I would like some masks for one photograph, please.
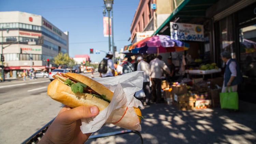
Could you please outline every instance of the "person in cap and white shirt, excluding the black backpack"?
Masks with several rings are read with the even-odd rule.
[[[113,53],[109,51],[106,54],[106,57],[104,58],[104,59],[108,59],[108,64],[107,64],[108,71],[106,73],[100,73],[101,77],[115,76],[115,71],[114,71],[115,67],[114,67],[112,58],[113,58]]]

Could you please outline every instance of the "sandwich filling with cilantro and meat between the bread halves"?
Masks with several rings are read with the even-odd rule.
[[[102,99],[102,100],[110,103],[110,100],[108,100],[105,95],[100,95],[99,93],[97,93],[96,91],[94,91],[93,89],[88,87],[87,85],[80,83],[80,82],[76,82],[75,80],[72,80],[72,78],[65,77],[59,73],[53,75],[53,78],[59,80],[60,82],[62,82],[65,85],[68,85],[69,87],[71,87],[71,90],[74,93],[76,93],[76,92],[88,93],[90,95],[93,95],[99,99]]]

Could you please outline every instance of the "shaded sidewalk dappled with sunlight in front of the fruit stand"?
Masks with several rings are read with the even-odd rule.
[[[142,110],[144,144],[256,143],[256,104],[239,102],[238,112],[220,108],[178,111],[173,105],[152,104]],[[123,128],[105,125],[93,135]],[[86,144],[139,144],[135,134],[87,141]]]

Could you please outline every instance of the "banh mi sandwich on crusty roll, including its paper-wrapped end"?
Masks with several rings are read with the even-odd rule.
[[[91,78],[76,73],[57,73],[47,88],[47,94],[54,100],[70,107],[96,105],[104,110],[111,102],[113,92]],[[119,108],[111,113],[106,123],[126,129],[134,129],[141,122],[142,114],[138,107]],[[134,114],[134,111],[136,115]]]

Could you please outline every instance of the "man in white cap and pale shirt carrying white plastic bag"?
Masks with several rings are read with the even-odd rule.
[[[143,91],[145,92],[146,95],[146,104],[150,105],[150,70],[149,70],[149,64],[145,62],[142,58],[142,56],[139,56],[137,58],[138,61],[138,66],[137,66],[137,71],[143,71]]]

